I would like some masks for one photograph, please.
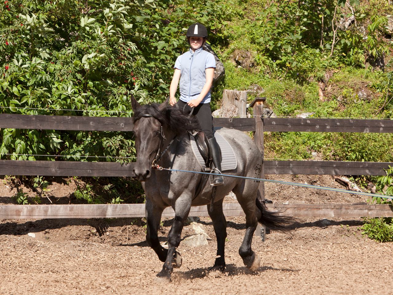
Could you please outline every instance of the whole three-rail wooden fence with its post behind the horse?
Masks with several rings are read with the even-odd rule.
[[[265,98],[257,98],[250,105],[254,118],[216,118],[216,127],[227,127],[241,131],[254,131],[254,140],[261,153],[263,132],[358,132],[393,133],[393,120],[363,119],[319,119],[319,118],[263,118]],[[131,118],[42,116],[0,114],[0,128],[83,130],[83,131],[132,131]],[[350,144],[350,143],[349,143]],[[385,175],[384,169],[392,162],[342,162],[288,160],[263,162],[264,174],[308,174],[308,175]],[[123,176],[132,177],[134,163],[122,165],[117,162],[77,161],[28,161],[0,160],[0,175],[43,176]],[[264,194],[264,183],[260,190]],[[267,204],[272,210],[281,210],[290,216],[393,216],[389,205],[370,204]],[[1,219],[23,218],[92,218],[92,217],[143,217],[144,205],[4,205],[0,206]],[[207,216],[206,206],[195,207],[190,216]],[[224,207],[226,216],[243,215],[238,204]],[[167,209],[163,216],[173,216]]]

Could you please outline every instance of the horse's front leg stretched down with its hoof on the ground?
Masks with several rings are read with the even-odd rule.
[[[162,270],[157,274],[159,282],[170,282],[173,266],[178,264],[180,254],[176,248],[180,244],[184,222],[191,208],[191,197],[180,197],[174,206],[174,221],[168,234],[168,253]],[[181,258],[180,258],[181,260]]]

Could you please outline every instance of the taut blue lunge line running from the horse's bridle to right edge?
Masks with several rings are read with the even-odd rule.
[[[168,168],[164,168],[164,170],[169,170],[169,171],[174,171],[174,172],[180,171],[180,172],[189,172],[189,173],[197,173],[197,174],[217,175],[215,173],[188,171],[188,170],[178,170],[178,169],[168,169]],[[306,188],[318,188],[320,190],[332,190],[334,192],[347,193],[347,194],[353,194],[353,195],[368,195],[370,197],[378,197],[378,198],[384,198],[384,199],[393,199],[393,197],[387,196],[387,195],[371,194],[371,193],[364,193],[364,192],[353,192],[351,190],[342,190],[340,188],[328,188],[328,187],[325,187],[325,186],[317,186],[317,185],[311,185],[311,184],[290,183],[290,182],[287,182],[287,181],[278,181],[278,180],[270,180],[270,179],[263,179],[263,178],[253,178],[253,177],[228,175],[228,174],[222,174],[222,176],[243,178],[243,179],[250,179],[250,180],[257,180],[257,181],[266,181],[266,182],[270,182],[270,183],[282,183],[282,184],[289,184],[289,185],[294,185],[294,186],[303,186],[303,187],[306,187]]]

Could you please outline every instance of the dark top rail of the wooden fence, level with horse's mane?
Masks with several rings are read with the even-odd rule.
[[[263,118],[264,131],[393,133],[393,120]],[[216,118],[216,127],[255,131],[254,118]],[[0,114],[0,128],[132,131],[129,117]]]

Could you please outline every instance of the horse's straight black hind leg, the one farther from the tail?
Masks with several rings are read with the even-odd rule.
[[[213,212],[210,212],[210,205],[208,205],[208,212],[213,221],[214,232],[217,237],[217,256],[213,267],[210,271],[224,271],[225,269],[225,239],[226,239],[226,219],[224,212],[222,212],[222,201],[214,203]]]

